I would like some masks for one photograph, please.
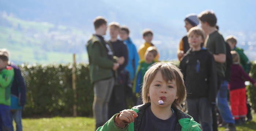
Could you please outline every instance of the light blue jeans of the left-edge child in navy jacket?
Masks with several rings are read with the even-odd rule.
[[[22,110],[11,111],[11,120],[14,119],[16,123],[16,131],[22,131],[21,118],[22,118]]]

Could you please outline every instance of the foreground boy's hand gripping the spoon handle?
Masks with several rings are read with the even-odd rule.
[[[125,124],[134,122],[134,118],[138,116],[138,114],[133,110],[123,110],[120,111],[120,113],[121,114],[118,116],[118,118]]]

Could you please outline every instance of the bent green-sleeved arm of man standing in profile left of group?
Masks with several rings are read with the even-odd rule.
[[[93,44],[93,47],[92,47],[93,51],[91,51],[92,52],[92,55],[91,55],[92,62],[95,63],[96,65],[98,65],[99,67],[112,69],[114,66],[114,61],[101,56],[101,54],[100,54],[101,47],[99,44],[100,43],[98,43],[98,42],[95,42]]]

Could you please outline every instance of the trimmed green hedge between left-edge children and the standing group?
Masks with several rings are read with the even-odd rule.
[[[87,64],[76,66],[77,111],[92,116],[93,87]],[[72,64],[20,65],[27,88],[23,116],[72,116]]]

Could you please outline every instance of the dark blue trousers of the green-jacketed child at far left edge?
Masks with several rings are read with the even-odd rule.
[[[10,106],[0,104],[0,131],[13,131]]]

